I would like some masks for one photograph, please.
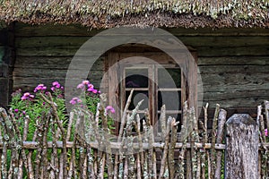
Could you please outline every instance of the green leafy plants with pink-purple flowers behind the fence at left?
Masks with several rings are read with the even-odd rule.
[[[74,105],[74,109],[76,110],[86,109],[95,115],[98,103],[100,103],[100,91],[94,89],[94,86],[90,81],[82,81],[82,83],[77,86],[77,89],[82,90],[81,96],[72,98],[69,103]],[[51,92],[52,100],[56,104],[56,113],[59,116],[60,121],[62,121],[64,127],[67,127],[66,125],[69,116],[65,107],[64,87],[59,82],[54,81],[49,90],[44,84],[39,84],[35,90],[33,90],[33,93],[25,92],[22,94],[22,90],[16,90],[12,94],[10,107],[15,120],[20,126],[20,132],[23,130],[25,117],[29,117],[30,119],[27,141],[32,140],[37,123],[40,122],[42,117],[52,113],[49,104],[41,97],[41,95],[43,95],[45,98],[49,98],[48,91]],[[115,112],[114,108],[111,106],[108,106],[106,109],[111,113]],[[108,119],[108,128],[113,129],[113,120],[111,117]],[[51,135],[51,132],[49,132],[49,141],[52,139]]]

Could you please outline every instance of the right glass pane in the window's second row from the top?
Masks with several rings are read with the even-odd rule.
[[[166,110],[181,110],[180,91],[158,91],[158,110],[165,104]]]

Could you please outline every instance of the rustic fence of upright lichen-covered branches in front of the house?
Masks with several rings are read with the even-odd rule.
[[[45,98],[51,113],[36,119],[31,141],[26,139],[32,119],[25,117],[19,125],[11,111],[0,108],[0,178],[224,178],[225,110],[216,106],[209,130],[208,105],[203,107],[204,119],[197,120],[186,103],[178,134],[178,122],[166,116],[163,106],[161,132],[156,133],[147,111],[141,124],[136,114],[141,103],[132,114],[126,113],[130,97],[117,138],[108,130],[106,98],[101,98],[96,115],[74,109],[66,125],[59,120],[54,102]],[[269,170],[264,133],[269,126],[268,111],[265,101],[257,112],[261,178],[268,177]]]

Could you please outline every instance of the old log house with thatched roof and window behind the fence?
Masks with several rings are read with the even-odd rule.
[[[268,0],[3,0],[0,21],[2,106],[8,104],[13,90],[33,90],[39,83],[50,85],[52,81],[65,84],[69,64],[82,44],[118,27],[161,28],[181,40],[197,63],[190,73],[194,78],[201,76],[203,101],[209,103],[209,109],[218,103],[229,115],[253,115],[256,106],[269,98]],[[141,58],[128,62],[132,68],[105,75],[113,64],[133,55]],[[161,70],[155,64],[141,67],[143,57],[165,66],[176,87],[169,88],[165,77],[156,77]],[[96,87],[101,81],[105,84],[103,91],[108,92],[112,106],[123,106],[129,90],[136,88],[135,95],[147,96],[152,116],[160,111],[158,94],[163,82],[164,91],[179,94],[179,108],[171,109],[170,114],[180,118],[189,91],[199,95],[199,84],[192,81],[187,85],[181,67],[156,47],[129,43],[100,55],[88,79]],[[130,79],[120,82],[128,72]],[[144,79],[147,75],[159,78],[160,84]],[[110,87],[115,81],[117,88]]]

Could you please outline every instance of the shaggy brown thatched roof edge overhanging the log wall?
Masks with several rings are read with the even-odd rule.
[[[269,0],[1,0],[0,21],[91,28],[269,27]]]

